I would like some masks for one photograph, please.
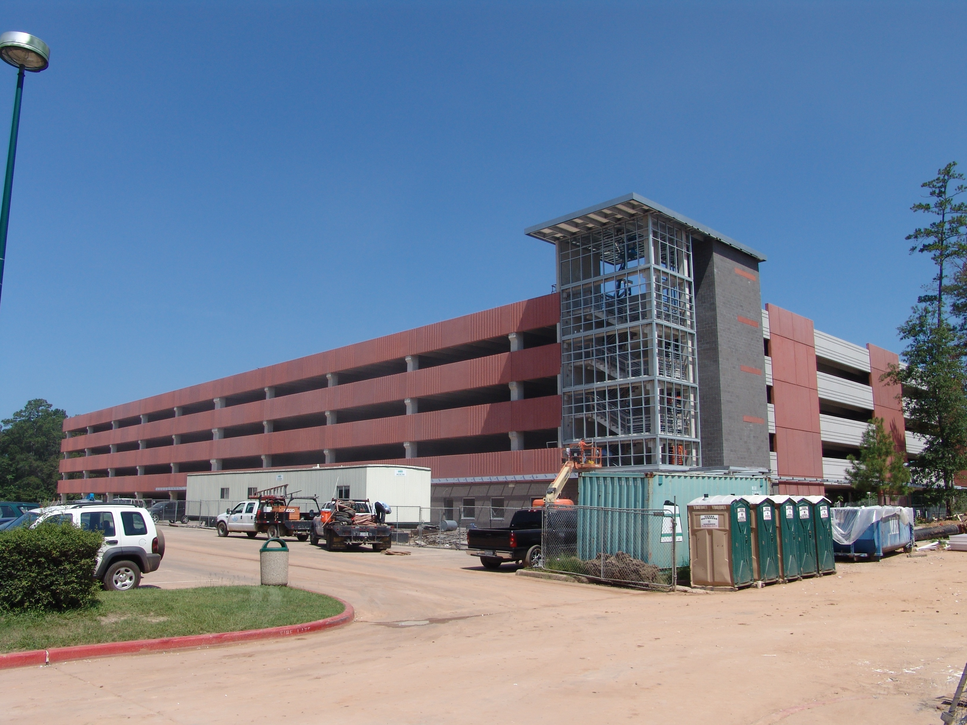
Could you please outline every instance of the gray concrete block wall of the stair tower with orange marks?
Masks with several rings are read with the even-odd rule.
[[[769,468],[758,263],[715,240],[694,244],[692,258],[702,465]]]

